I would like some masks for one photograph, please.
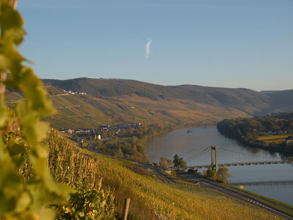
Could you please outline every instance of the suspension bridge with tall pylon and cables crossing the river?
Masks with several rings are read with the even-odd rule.
[[[226,154],[229,152],[230,154],[237,154],[238,158],[236,160],[233,159],[232,161],[230,158],[229,162],[226,163],[218,163],[218,150],[226,151]],[[190,166],[183,166],[180,164],[176,167],[173,167],[174,170],[182,170],[182,169],[196,169],[196,168],[212,168],[218,171],[219,167],[231,167],[231,166],[245,166],[245,165],[265,165],[265,164],[285,164],[291,163],[293,164],[293,157],[269,157],[269,156],[258,156],[258,155],[251,155],[246,153],[239,153],[233,150],[227,150],[225,148],[221,148],[217,145],[211,145],[210,147],[202,150],[201,152],[193,155],[192,157],[185,160],[186,163],[199,158],[200,156],[208,153],[211,151],[211,163],[210,164],[197,164],[197,165],[190,165]],[[241,161],[242,159],[242,161]]]

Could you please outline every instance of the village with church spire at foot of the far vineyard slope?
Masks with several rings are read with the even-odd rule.
[[[150,128],[152,125],[147,126],[147,128]],[[141,123],[122,123],[110,126],[109,121],[107,125],[101,125],[98,128],[60,128],[58,131],[69,133],[71,134],[71,137],[77,139],[77,141],[83,141],[83,138],[86,137],[88,140],[100,140],[101,139],[101,133],[105,132],[108,133],[108,131],[113,130],[115,131],[115,135],[118,135],[121,129],[129,129],[129,128],[141,128]],[[77,137],[77,138],[76,138]]]

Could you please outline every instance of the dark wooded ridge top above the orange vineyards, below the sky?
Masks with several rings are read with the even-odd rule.
[[[86,92],[97,98],[136,94],[154,101],[184,99],[208,105],[220,104],[248,114],[261,112],[268,108],[272,102],[272,98],[266,94],[243,88],[231,89],[197,85],[162,86],[127,79],[43,79],[43,82],[67,91]]]

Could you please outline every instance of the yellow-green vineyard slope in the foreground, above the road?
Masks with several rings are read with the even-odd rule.
[[[225,197],[215,191],[191,185],[164,184],[155,177],[141,176],[115,160],[76,148],[51,132],[44,141],[49,148],[48,166],[60,182],[77,181],[94,188],[102,182],[115,196],[116,216],[121,216],[123,199],[130,197],[128,219],[278,219],[260,209]]]

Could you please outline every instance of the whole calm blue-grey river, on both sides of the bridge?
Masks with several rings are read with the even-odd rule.
[[[187,130],[192,133],[186,133]],[[218,163],[279,161],[281,159],[278,157],[292,156],[245,146],[219,133],[216,126],[180,128],[154,137],[147,143],[146,154],[150,156],[151,162],[159,162],[161,156],[173,160],[174,155],[178,154],[184,160],[188,161],[190,158],[187,165],[209,165],[211,164],[211,151],[208,148],[210,145],[219,146]],[[293,164],[227,168],[233,175],[229,181],[239,182],[241,183],[239,185],[244,185],[246,190],[293,205]],[[199,171],[203,170],[199,169]]]

